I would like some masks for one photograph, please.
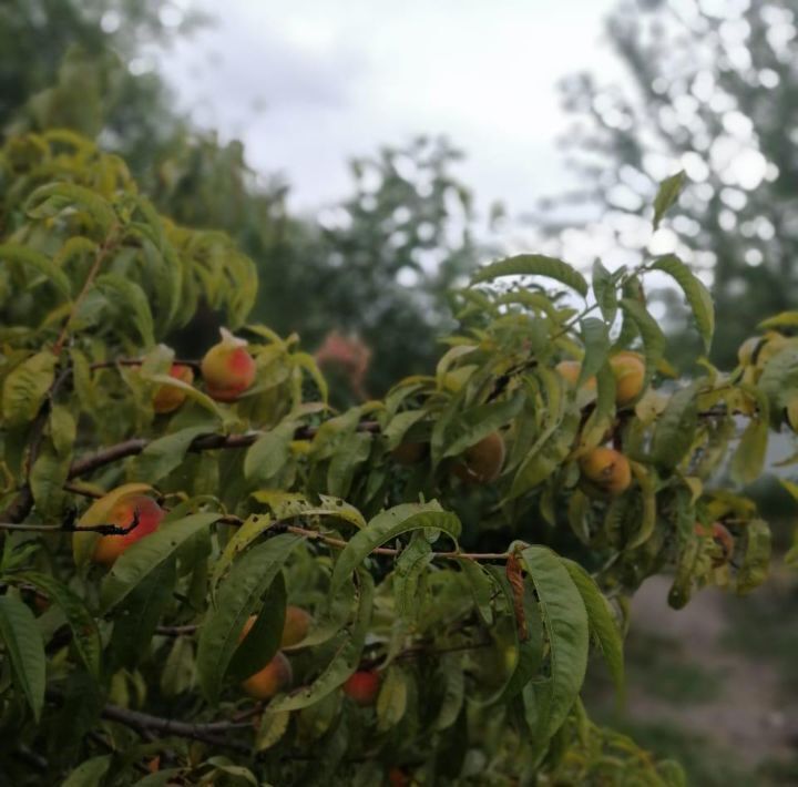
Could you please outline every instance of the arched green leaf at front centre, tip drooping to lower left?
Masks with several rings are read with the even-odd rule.
[[[397,535],[420,528],[440,530],[457,541],[461,525],[457,515],[443,511],[437,501],[395,505],[377,514],[350,539],[336,561],[330,591],[335,593],[372,550]]]

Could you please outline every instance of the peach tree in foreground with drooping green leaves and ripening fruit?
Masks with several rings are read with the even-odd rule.
[[[0,780],[684,784],[580,693],[594,650],[623,696],[646,578],[765,579],[739,487],[798,423],[794,315],[676,379],[649,272],[714,329],[681,259],[519,255],[450,293],[433,375],[334,411],[253,263],[120,159],[27,135],[0,178]],[[176,359],[203,300],[236,335]]]

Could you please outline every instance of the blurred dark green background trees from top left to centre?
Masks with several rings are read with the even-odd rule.
[[[288,185],[254,172],[239,142],[195,127],[149,64],[158,47],[207,22],[155,0],[3,3],[4,133],[66,127],[98,139],[125,157],[161,211],[224,229],[256,260],[253,320],[297,331],[310,347],[337,330],[361,337],[369,369],[357,390],[337,387],[339,403],[430,371],[450,319],[446,293],[480,254],[471,196],[452,174],[460,154],[443,140],[386,147],[351,163],[351,196],[320,221],[289,215]],[[198,355],[217,327],[201,308],[174,344]]]

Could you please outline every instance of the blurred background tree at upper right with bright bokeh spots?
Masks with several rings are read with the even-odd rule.
[[[712,284],[720,365],[798,295],[797,11],[795,0],[627,0],[606,29],[626,86],[589,73],[562,85],[581,185],[538,218],[559,234],[576,224],[569,209],[583,224],[573,208],[592,206],[612,243],[638,252],[648,237],[637,218],[658,181],[684,168],[694,185],[657,245],[684,251]],[[664,297],[678,329],[677,301]]]

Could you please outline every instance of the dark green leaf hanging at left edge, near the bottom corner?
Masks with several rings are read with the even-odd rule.
[[[11,662],[14,684],[39,722],[47,681],[44,642],[33,613],[11,595],[0,596],[0,638]]]

